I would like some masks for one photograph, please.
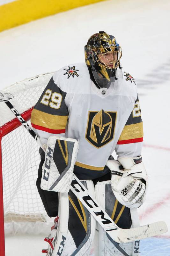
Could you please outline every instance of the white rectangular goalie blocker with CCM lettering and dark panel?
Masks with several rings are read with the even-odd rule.
[[[57,136],[48,138],[42,166],[42,189],[60,193],[69,192],[78,145],[76,139]]]

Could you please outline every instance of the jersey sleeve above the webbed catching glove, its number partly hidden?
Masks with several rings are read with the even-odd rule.
[[[137,96],[134,109],[122,130],[115,152],[118,157],[137,157],[141,155],[142,144],[143,122],[141,119],[141,109]]]

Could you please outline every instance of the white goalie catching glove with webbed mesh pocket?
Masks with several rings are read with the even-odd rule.
[[[116,199],[126,207],[140,207],[148,188],[142,157],[109,160],[107,166],[112,172],[111,187]]]

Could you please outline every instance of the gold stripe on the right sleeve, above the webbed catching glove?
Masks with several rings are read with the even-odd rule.
[[[143,122],[137,124],[125,125],[122,130],[119,140],[130,140],[137,139],[144,136],[143,133]]]

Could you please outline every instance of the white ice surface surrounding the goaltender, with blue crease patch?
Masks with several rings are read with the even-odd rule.
[[[170,256],[169,0],[122,0],[59,13],[0,33],[0,88],[70,62],[84,62],[84,45],[99,30],[116,36],[122,65],[138,83],[144,123],[143,160],[149,189],[141,225],[165,220],[169,231],[141,241],[141,256]],[[47,235],[47,234],[46,234]],[[44,236],[45,237],[45,236]],[[42,236],[7,236],[6,256],[38,256]]]

